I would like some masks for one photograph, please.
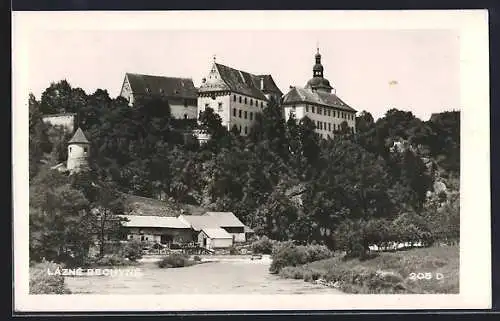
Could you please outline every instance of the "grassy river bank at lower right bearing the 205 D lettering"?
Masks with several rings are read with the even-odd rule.
[[[279,274],[346,293],[459,293],[459,247],[379,253],[366,260],[339,256],[284,267]]]

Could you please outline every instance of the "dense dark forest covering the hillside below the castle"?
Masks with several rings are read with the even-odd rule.
[[[68,181],[47,170],[66,160],[71,135],[42,116],[72,112],[91,142],[92,180],[108,191],[100,194],[116,190],[232,211],[258,235],[348,252],[392,241],[458,239],[459,112],[423,121],[390,109],[374,121],[363,111],[355,134],[341,129],[322,139],[311,120],[285,121],[273,102],[250,134],[240,136],[211,109],[198,122],[176,120],[160,98],[130,107],[106,90],[89,95],[66,81],[51,84],[39,101],[30,96],[29,112],[30,224],[37,231],[57,206],[74,213],[64,229],[79,224],[92,204],[119,211],[110,197],[82,187],[81,177]],[[211,139],[200,145],[190,137],[193,128]]]

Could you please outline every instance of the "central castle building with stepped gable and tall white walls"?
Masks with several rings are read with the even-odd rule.
[[[280,101],[282,92],[271,75],[253,75],[214,62],[198,89],[198,114],[210,107],[228,130],[233,126],[247,135],[271,99]]]

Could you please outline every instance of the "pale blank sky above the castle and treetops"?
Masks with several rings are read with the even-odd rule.
[[[376,119],[390,108],[460,110],[460,43],[453,29],[414,30],[109,30],[39,28],[22,39],[27,88],[39,99],[66,79],[88,94],[119,95],[126,72],[192,78],[199,86],[213,57],[271,74],[283,93],[312,77],[317,46],[337,95]]]

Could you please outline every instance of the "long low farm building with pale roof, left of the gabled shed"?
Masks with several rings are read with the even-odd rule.
[[[191,227],[177,217],[124,215],[127,240],[161,244],[192,242]]]

